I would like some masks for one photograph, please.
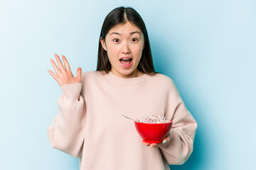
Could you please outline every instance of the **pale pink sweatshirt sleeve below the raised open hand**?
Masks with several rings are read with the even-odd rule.
[[[58,113],[48,127],[51,147],[73,157],[82,155],[85,138],[85,101],[80,95],[82,83],[60,86],[63,91],[58,98]]]

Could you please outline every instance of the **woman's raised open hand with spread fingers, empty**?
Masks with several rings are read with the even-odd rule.
[[[68,64],[68,60],[65,58],[65,56],[62,55],[65,67],[63,66],[63,63],[61,62],[60,57],[58,57],[57,54],[54,54],[54,56],[58,63],[58,67],[52,59],[50,59],[50,62],[53,65],[53,69],[56,74],[54,74],[52,71],[50,71],[50,69],[48,69],[48,72],[58,82],[58,84],[60,84],[60,86],[63,86],[65,84],[80,83],[82,69],[80,67],[78,67],[76,77],[74,77],[70,70],[70,65]]]

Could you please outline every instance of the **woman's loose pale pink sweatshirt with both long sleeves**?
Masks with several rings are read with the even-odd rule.
[[[163,74],[125,79],[111,72],[84,72],[82,83],[60,88],[63,95],[48,137],[51,147],[80,157],[80,170],[164,170],[186,162],[193,150],[196,121]],[[146,147],[134,122],[122,114],[173,120],[170,142]]]

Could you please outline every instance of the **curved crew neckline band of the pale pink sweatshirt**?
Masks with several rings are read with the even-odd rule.
[[[105,74],[105,77],[114,83],[122,84],[122,85],[133,85],[133,84],[142,84],[150,78],[149,74],[142,74],[140,77],[132,77],[132,78],[124,78],[118,77],[114,75],[112,72],[108,72]]]

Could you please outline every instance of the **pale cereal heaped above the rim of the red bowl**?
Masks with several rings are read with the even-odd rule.
[[[135,120],[138,123],[170,123],[171,121],[166,119],[166,117],[162,115],[144,115],[142,119]]]

